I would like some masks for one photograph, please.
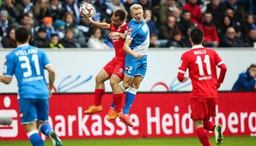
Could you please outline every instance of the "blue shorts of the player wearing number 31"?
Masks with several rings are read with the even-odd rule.
[[[49,99],[19,99],[20,118],[22,124],[36,120],[48,121]]]

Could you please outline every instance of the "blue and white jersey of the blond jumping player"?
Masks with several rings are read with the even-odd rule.
[[[132,39],[130,48],[135,52],[147,55],[149,50],[149,26],[142,20],[132,19],[127,28],[127,38]]]

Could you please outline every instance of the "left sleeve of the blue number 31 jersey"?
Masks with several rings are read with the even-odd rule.
[[[14,62],[9,55],[6,55],[5,61],[3,64],[3,75],[12,77],[14,73],[15,73]]]

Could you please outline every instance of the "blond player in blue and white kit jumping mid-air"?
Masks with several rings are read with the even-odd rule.
[[[125,96],[124,110],[119,114],[120,120],[124,121],[127,126],[132,126],[129,111],[147,70],[149,49],[149,27],[143,18],[143,8],[140,4],[133,4],[130,11],[133,19],[127,27],[124,44],[125,77],[120,85],[122,91],[129,89]]]

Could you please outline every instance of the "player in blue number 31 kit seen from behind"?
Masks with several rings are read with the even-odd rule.
[[[19,88],[21,124],[26,127],[27,137],[32,145],[45,145],[39,135],[40,131],[52,139],[54,146],[62,146],[56,132],[47,123],[49,97],[52,96],[55,70],[44,50],[28,44],[30,35],[25,26],[18,26],[15,29],[15,38],[18,47],[6,55],[0,81],[8,85],[15,75]],[[44,69],[49,75],[48,87]]]

